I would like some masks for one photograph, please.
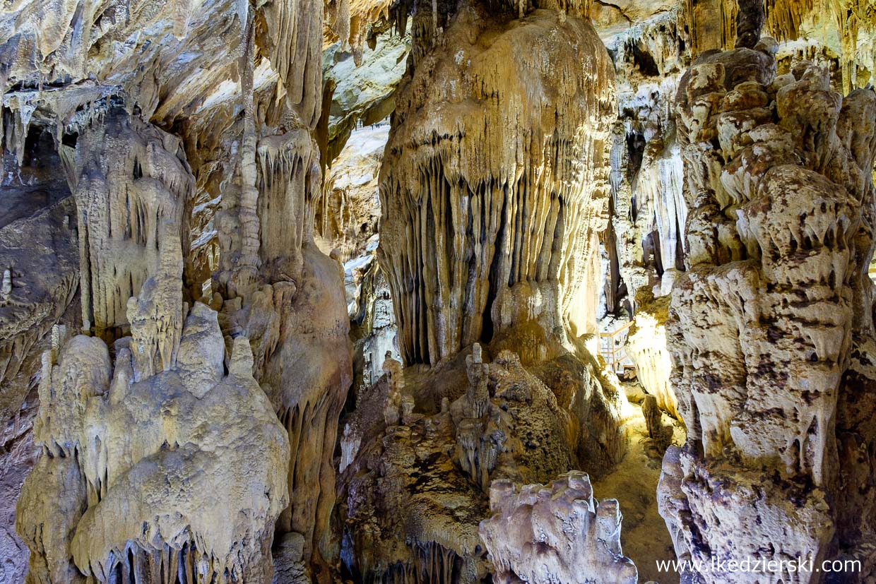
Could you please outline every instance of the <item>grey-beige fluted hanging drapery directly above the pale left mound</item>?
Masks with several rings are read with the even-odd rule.
[[[84,132],[75,162],[83,327],[111,337],[147,273],[175,261],[181,277],[194,184],[177,138],[119,112]]]

